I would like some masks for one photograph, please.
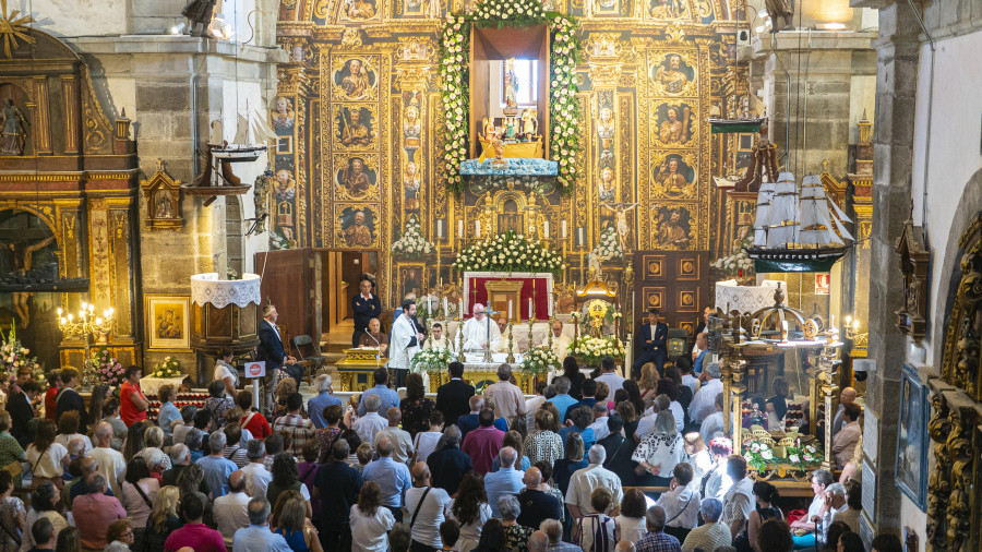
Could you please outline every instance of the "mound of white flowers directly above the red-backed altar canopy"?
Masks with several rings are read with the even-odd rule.
[[[505,232],[464,249],[454,261],[455,271],[550,272],[565,268],[563,257],[538,240]]]

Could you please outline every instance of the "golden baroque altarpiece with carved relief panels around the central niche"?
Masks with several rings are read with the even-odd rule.
[[[539,231],[549,221],[551,245],[579,253],[574,228],[584,229],[591,249],[604,228],[616,224],[616,212],[601,203],[637,203],[627,214],[635,229],[628,250],[728,254],[732,243],[724,237],[734,221],[710,176],[721,173],[724,164],[738,166],[739,136],[711,135],[706,119],[730,112],[746,94],[739,84],[746,68],[735,63],[740,2],[549,3],[548,9],[576,17],[580,29],[575,99],[584,113],[582,177],[565,194],[516,185],[471,187],[455,195],[442,183],[439,36],[447,12],[471,5],[464,0],[284,1],[277,34],[290,61],[279,68],[272,116],[274,123],[277,116],[290,123],[277,128],[284,140],[274,170],[284,182],[277,201],[292,204],[284,209],[291,216],[276,219],[271,229],[274,248],[387,253],[409,217],[419,219],[431,242],[440,220],[442,274],[438,263],[380,255],[387,302],[400,297],[393,285],[410,265],[426,272],[427,286],[440,277],[452,281],[454,251],[460,240],[476,238],[475,221],[487,237],[489,229],[504,230],[515,213],[529,213],[528,223]],[[568,260],[575,264],[576,256]]]

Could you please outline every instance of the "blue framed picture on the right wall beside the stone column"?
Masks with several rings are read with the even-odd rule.
[[[900,380],[900,431],[897,432],[897,487],[926,512],[927,387],[918,371],[903,364]]]

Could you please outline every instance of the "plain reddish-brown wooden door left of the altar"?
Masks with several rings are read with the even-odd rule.
[[[277,322],[286,338],[309,335],[321,336],[320,293],[315,292],[316,265],[309,248],[268,251],[255,254],[256,272],[262,275],[263,307],[276,305]],[[262,316],[262,309],[259,310]]]

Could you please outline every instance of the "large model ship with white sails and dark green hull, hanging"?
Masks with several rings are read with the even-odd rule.
[[[829,208],[831,206],[831,208]],[[802,180],[791,172],[763,182],[757,192],[754,244],[745,248],[756,272],[828,272],[854,241],[852,220],[825,193],[817,175]]]

